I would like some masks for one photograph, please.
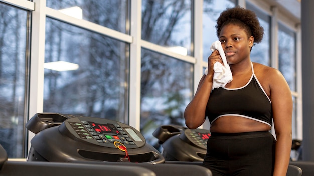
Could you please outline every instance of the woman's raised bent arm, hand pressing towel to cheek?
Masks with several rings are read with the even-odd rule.
[[[213,84],[213,65],[215,62],[221,62],[219,52],[214,51],[208,58],[208,74],[201,78],[197,91],[184,111],[185,123],[188,128],[196,129],[205,121],[206,105],[212,90]]]

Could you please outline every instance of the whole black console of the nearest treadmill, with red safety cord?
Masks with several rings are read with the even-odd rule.
[[[37,113],[26,124],[36,135],[27,161],[163,163],[135,128],[105,118]]]

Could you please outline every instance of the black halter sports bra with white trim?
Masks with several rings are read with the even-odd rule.
[[[243,87],[212,90],[205,113],[211,124],[222,116],[240,116],[272,127],[271,101],[254,74],[253,64],[252,76]]]

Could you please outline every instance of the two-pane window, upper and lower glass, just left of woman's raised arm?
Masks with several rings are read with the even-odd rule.
[[[142,0],[142,39],[191,55],[191,14],[191,0]],[[146,49],[141,52],[140,131],[155,145],[152,133],[160,125],[184,125],[193,64]]]

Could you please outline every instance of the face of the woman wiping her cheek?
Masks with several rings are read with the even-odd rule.
[[[236,64],[250,58],[254,38],[248,37],[245,30],[238,25],[225,25],[220,31],[219,40],[229,64]]]

